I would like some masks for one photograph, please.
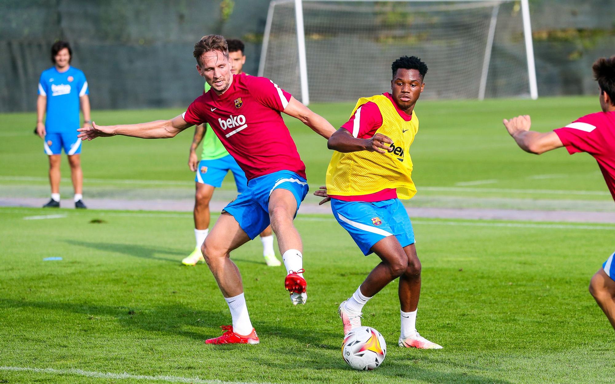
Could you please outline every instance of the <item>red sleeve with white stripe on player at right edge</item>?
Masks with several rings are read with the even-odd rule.
[[[583,116],[569,123],[566,127],[554,130],[561,143],[568,149],[569,154],[576,154],[577,152],[596,154],[600,152],[601,140],[595,135],[599,120],[592,115]]]

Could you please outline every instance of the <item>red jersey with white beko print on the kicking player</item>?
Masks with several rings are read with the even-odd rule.
[[[248,180],[282,170],[306,178],[306,167],[280,114],[290,93],[265,77],[231,76],[226,92],[204,92],[183,119],[194,125],[209,123]]]

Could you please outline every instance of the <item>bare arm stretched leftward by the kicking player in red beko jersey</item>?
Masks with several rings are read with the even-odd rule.
[[[115,135],[133,136],[143,139],[166,139],[175,137],[178,133],[191,127],[191,123],[180,115],[171,120],[156,120],[149,123],[122,124],[122,125],[96,125],[92,122],[92,127],[79,128],[81,132],[77,137],[82,140],[92,140],[97,137],[109,137]]]

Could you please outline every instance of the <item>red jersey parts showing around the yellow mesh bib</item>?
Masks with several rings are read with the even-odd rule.
[[[395,107],[399,116],[406,121],[412,120],[412,116],[403,112],[395,101],[393,100],[390,93],[383,93],[384,96],[387,96],[391,103]],[[344,123],[341,128],[346,128],[352,136],[359,139],[371,139],[373,135],[375,135],[378,128],[383,125],[383,115],[380,113],[380,109],[371,101],[363,104],[352,114],[350,120]],[[336,198],[337,200],[341,200],[343,202],[381,202],[383,200],[389,200],[390,198],[397,198],[397,190],[386,188],[376,192],[375,194],[369,195],[357,195],[357,196],[335,196],[331,195],[332,198]]]

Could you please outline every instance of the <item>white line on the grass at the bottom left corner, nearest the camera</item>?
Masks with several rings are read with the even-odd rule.
[[[181,376],[147,376],[147,375],[132,375],[128,373],[113,374],[105,372],[95,372],[82,369],[53,369],[53,368],[30,368],[30,367],[2,367],[0,370],[12,372],[35,372],[38,374],[54,374],[54,375],[78,375],[85,377],[111,378],[111,379],[131,379],[131,380],[156,380],[159,382],[169,383],[195,383],[195,384],[256,384],[256,382],[223,382],[222,380],[207,380],[198,377],[181,377]],[[259,383],[269,384],[269,383]]]

